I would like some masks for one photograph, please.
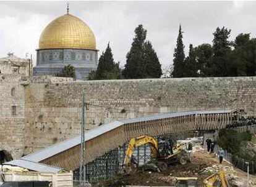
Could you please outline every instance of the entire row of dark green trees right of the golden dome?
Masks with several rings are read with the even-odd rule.
[[[224,26],[216,28],[212,44],[204,43],[197,47],[190,44],[189,54],[186,57],[182,41],[183,32],[179,25],[173,63],[170,63],[168,77],[255,76],[256,39],[250,38],[249,33],[241,33],[234,41],[229,41],[230,34],[231,30]],[[87,79],[144,79],[161,78],[162,75],[158,55],[151,42],[147,40],[147,30],[143,25],[139,25],[135,28],[124,69],[120,68],[119,62],[114,61],[108,43],[99,58],[97,69],[92,71]]]

